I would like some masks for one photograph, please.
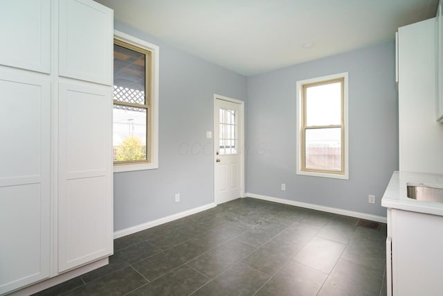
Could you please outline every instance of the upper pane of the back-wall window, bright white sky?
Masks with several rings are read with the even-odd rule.
[[[306,125],[341,124],[341,82],[307,87]]]

